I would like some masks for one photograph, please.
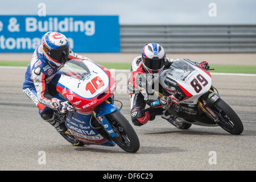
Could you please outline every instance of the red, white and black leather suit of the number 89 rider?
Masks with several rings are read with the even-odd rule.
[[[164,69],[168,69],[171,67],[171,64],[174,60],[168,61],[166,60]],[[206,61],[203,61],[201,63],[197,63],[204,69],[207,69],[209,67],[208,63]],[[148,82],[150,79],[148,79],[146,74],[146,70],[143,68],[142,65],[142,59],[141,56],[135,57],[133,62],[131,63],[131,69],[130,69],[130,78],[128,80],[128,93],[130,95],[130,102],[131,102],[131,121],[136,126],[141,126],[146,124],[149,120],[152,121],[155,119],[156,115],[162,115],[163,114],[163,106],[164,104],[161,102],[161,97],[163,95],[170,95],[170,91],[166,92],[164,88],[160,84],[158,84],[158,89],[155,89],[158,93],[158,98],[151,99],[148,97],[148,90],[144,91],[139,90],[143,87],[143,85],[147,85],[146,82]],[[139,80],[141,76],[146,77],[146,79],[143,81]],[[139,79],[138,79],[139,78]],[[152,81],[151,81],[152,82]],[[154,84],[154,83],[153,83]],[[155,87],[154,85],[152,87]],[[174,88],[175,89],[175,88]],[[175,90],[172,90],[175,92]],[[150,106],[147,109],[144,109],[146,105]]]

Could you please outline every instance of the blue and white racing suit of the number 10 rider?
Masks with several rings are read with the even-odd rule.
[[[69,60],[71,59],[89,60],[70,49]],[[48,109],[57,109],[54,102],[56,98],[53,96],[61,76],[60,69],[61,67],[49,63],[42,45],[35,49],[25,74],[23,92],[38,106],[40,115]]]

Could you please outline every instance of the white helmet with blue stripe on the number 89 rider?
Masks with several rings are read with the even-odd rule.
[[[166,63],[166,52],[157,43],[149,43],[142,49],[142,64],[148,73],[159,73]]]

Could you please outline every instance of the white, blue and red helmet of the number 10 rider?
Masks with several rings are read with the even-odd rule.
[[[47,32],[42,38],[42,45],[44,55],[51,64],[63,67],[68,61],[69,45],[65,35],[59,32]]]

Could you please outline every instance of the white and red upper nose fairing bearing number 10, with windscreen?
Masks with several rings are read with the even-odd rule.
[[[113,96],[116,85],[110,71],[92,61],[71,60],[62,72],[66,75],[61,75],[57,91],[67,98],[79,113],[92,113],[99,104]],[[99,84],[97,79],[95,82],[95,78],[100,79],[102,83],[99,88],[92,86],[93,83]],[[96,89],[95,92],[92,93],[88,86]]]

